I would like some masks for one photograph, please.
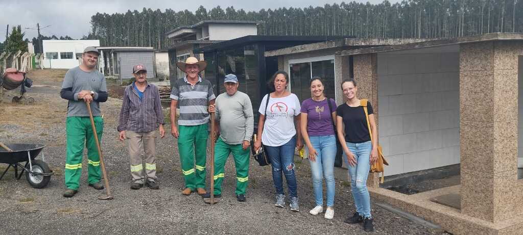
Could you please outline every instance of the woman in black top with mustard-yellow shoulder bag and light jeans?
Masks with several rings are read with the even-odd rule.
[[[347,79],[342,82],[343,95],[346,103],[337,108],[337,132],[339,142],[342,144],[344,160],[349,168],[350,186],[352,189],[356,213],[347,218],[345,222],[357,224],[363,222],[365,231],[373,231],[372,216],[370,215],[370,196],[367,190],[367,177],[370,166],[378,159],[378,132],[374,112],[370,102],[367,103],[372,139],[369,134],[367,117],[356,96],[358,88],[356,82]],[[345,126],[345,130],[343,130]]]

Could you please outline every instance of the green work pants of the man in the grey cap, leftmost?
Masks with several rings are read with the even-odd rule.
[[[98,139],[104,131],[104,120],[101,116],[94,117]],[[78,190],[82,176],[82,156],[84,145],[87,148],[87,171],[89,184],[100,181],[100,156],[93,134],[89,117],[70,116],[65,124],[67,133],[67,156],[65,159],[65,186],[67,189]]]

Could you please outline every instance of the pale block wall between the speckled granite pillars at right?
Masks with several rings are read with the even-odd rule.
[[[459,53],[378,54],[385,175],[448,166],[459,156]]]

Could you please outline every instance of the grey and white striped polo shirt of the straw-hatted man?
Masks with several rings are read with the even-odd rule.
[[[178,125],[196,126],[209,122],[208,104],[216,97],[211,82],[198,76],[198,83],[194,86],[186,77],[176,80],[170,91],[170,98],[178,100]]]

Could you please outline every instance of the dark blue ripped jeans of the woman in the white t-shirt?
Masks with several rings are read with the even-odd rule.
[[[270,158],[272,166],[272,180],[276,187],[277,194],[283,193],[283,177],[281,172],[285,175],[287,180],[287,188],[290,197],[298,197],[298,186],[296,184],[296,175],[294,174],[294,148],[296,147],[296,137],[292,137],[289,142],[282,146],[265,146],[265,150]]]

